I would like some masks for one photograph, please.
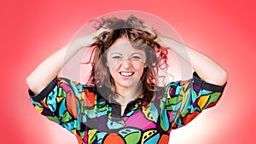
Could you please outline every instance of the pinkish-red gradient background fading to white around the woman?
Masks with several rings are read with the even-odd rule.
[[[119,10],[159,16],[179,32],[184,43],[209,55],[229,72],[218,106],[173,130],[170,144],[256,143],[255,7],[254,0],[1,1],[0,143],[77,143],[67,130],[34,110],[26,76],[89,20]]]

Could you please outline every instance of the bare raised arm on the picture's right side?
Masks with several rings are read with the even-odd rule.
[[[157,43],[164,49],[172,49],[174,53],[181,56],[183,60],[189,62],[195,72],[198,73],[207,83],[223,85],[228,79],[228,74],[223,67],[219,66],[214,60],[203,55],[195,49],[191,49],[183,43],[178,43],[172,38],[158,35]],[[186,53],[184,53],[184,51]],[[189,56],[187,56],[189,55]]]

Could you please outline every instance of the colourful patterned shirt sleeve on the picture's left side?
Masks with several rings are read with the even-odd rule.
[[[81,84],[67,78],[55,78],[38,95],[29,89],[29,95],[38,112],[75,134],[79,130],[77,113],[81,91]]]

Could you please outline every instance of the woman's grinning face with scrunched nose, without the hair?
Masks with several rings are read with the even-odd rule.
[[[117,39],[108,49],[107,66],[116,89],[137,87],[143,76],[146,55],[135,49],[126,37]]]

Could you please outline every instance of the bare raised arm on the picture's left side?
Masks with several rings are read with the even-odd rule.
[[[98,36],[102,29],[91,33],[88,36],[76,39],[72,43],[68,43],[65,47],[57,50],[53,55],[50,55],[26,78],[28,88],[35,95],[38,95],[61,71],[68,60],[73,55],[79,52],[84,47],[89,47],[94,41],[94,37]]]

